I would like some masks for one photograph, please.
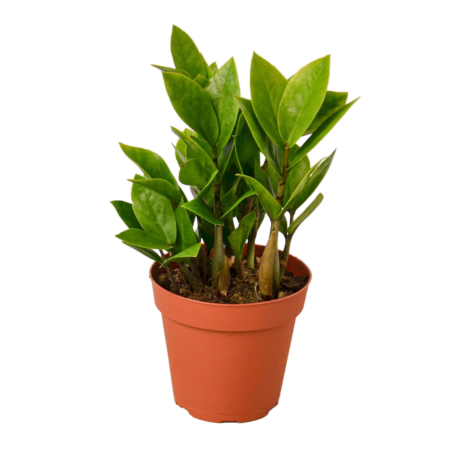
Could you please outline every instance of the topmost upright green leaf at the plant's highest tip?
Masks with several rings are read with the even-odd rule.
[[[170,50],[177,69],[188,72],[192,79],[195,79],[197,74],[206,77],[204,61],[195,43],[186,32],[176,26],[172,29]]]

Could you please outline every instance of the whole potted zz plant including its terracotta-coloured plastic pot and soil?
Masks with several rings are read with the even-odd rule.
[[[188,126],[172,128],[172,153],[194,198],[158,154],[121,144],[141,174],[129,180],[132,203],[112,202],[128,226],[117,237],[154,260],[176,403],[199,419],[247,422],[278,403],[310,283],[290,245],[323,199],[319,193],[304,208],[334,152],[314,164],[308,153],[356,100],[327,91],[330,56],[286,79],[254,53],[246,99],[233,58],[207,64],[176,26],[171,52],[175,67],[155,67]],[[265,215],[271,231],[263,247],[255,237]]]

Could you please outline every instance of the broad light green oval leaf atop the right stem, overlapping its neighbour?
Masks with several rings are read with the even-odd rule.
[[[287,84],[279,105],[278,127],[281,138],[289,146],[304,134],[321,108],[327,91],[329,66],[330,55],[327,55],[302,67]]]

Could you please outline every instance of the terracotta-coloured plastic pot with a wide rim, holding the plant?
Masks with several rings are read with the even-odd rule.
[[[263,246],[255,246],[260,256]],[[290,255],[287,270],[309,275],[304,288],[270,302],[204,303],[180,297],[156,282],[164,268],[150,270],[154,300],[162,313],[175,402],[209,422],[249,422],[276,406],[295,318],[302,311],[310,269]]]

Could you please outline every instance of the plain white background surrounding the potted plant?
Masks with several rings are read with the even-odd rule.
[[[461,61],[456,2],[15,1],[0,14],[0,459],[461,461]],[[286,77],[331,53],[361,99],[292,253],[313,280],[280,403],[247,424],[173,401],[150,261],[109,204],[176,174],[172,24],[208,62]],[[459,44],[457,44],[459,41]],[[259,235],[265,243],[267,224]]]

